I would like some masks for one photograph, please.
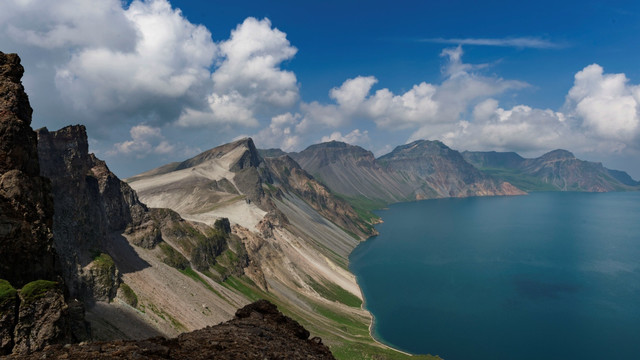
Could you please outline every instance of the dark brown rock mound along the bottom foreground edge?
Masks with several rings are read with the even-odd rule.
[[[233,320],[175,339],[53,345],[30,356],[9,359],[334,359],[322,340],[309,339],[302,325],[266,300],[238,310]]]

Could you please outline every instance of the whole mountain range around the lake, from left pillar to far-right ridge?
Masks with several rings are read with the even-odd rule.
[[[371,210],[431,198],[640,188],[628,174],[564,150],[524,159],[427,140],[376,158],[342,142],[286,153],[245,138],[122,181],[89,153],[82,125],[31,129],[22,72],[17,56],[0,53],[0,355],[60,355],[55,344],[89,340],[160,351],[178,345],[113,341],[183,333],[178,339],[224,333],[224,341],[253,334],[267,342],[278,324],[297,321],[308,329],[299,339],[322,338],[300,346],[324,343],[345,359],[405,358],[372,338],[349,272],[351,251],[377,234]],[[258,299],[289,320],[264,303],[236,313]],[[228,320],[219,331],[193,332]]]

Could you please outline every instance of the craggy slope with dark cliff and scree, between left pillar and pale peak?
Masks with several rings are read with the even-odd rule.
[[[70,295],[87,306],[94,339],[174,336],[227,320],[249,302],[197,272],[213,265],[218,276],[242,272],[246,250],[230,237],[228,223],[210,227],[147,208],[88,153],[83,126],[37,134],[64,278]],[[225,252],[237,261],[219,259]]]

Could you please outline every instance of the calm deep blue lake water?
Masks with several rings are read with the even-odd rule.
[[[379,212],[351,270],[375,336],[459,359],[640,359],[640,193],[428,200]]]

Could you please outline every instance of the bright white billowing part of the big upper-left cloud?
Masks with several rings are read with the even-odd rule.
[[[57,87],[76,109],[136,113],[188,96],[206,81],[216,46],[205,27],[166,0],[134,1],[123,14],[135,29],[132,51],[94,43],[56,73]]]

